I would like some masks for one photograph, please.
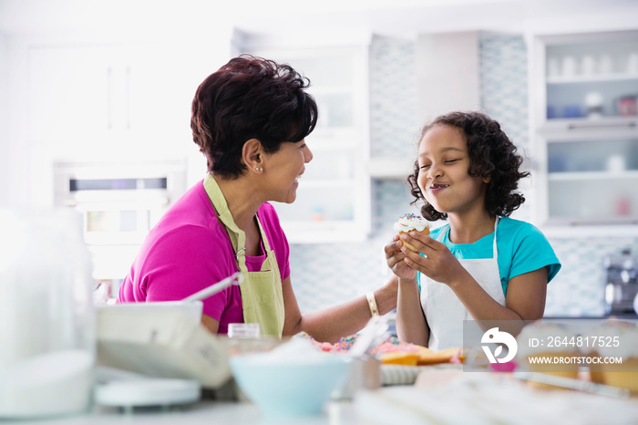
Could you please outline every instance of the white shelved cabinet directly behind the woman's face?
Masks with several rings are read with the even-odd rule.
[[[319,118],[306,142],[306,164],[292,204],[273,202],[291,243],[354,242],[370,231],[367,47],[244,47],[244,53],[288,63],[311,81]]]

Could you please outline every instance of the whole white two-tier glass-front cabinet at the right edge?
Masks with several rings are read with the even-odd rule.
[[[536,36],[530,55],[538,221],[635,233],[638,31]]]

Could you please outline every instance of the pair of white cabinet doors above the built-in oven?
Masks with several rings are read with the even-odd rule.
[[[169,140],[188,128],[188,59],[166,44],[30,48],[36,143]]]

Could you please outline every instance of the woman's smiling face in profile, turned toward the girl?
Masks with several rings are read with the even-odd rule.
[[[305,140],[283,142],[279,150],[268,155],[264,163],[268,200],[293,203],[297,197],[298,179],[304,174],[305,164],[313,160],[313,152]]]

